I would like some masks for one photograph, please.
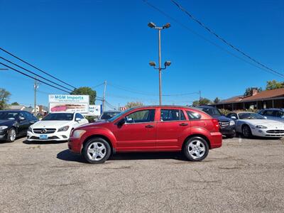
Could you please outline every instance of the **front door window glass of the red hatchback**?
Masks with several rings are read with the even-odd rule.
[[[126,116],[126,124],[153,122],[155,120],[155,109],[135,111]]]

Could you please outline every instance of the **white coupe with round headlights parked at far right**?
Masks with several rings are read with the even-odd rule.
[[[228,114],[229,118],[236,122],[236,132],[244,137],[282,137],[284,136],[284,124],[280,121],[268,120],[266,117],[254,112],[238,112]]]

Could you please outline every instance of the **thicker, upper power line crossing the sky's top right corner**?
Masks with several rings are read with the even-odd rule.
[[[204,23],[202,23],[201,21],[199,21],[197,18],[195,18],[195,16],[192,16],[192,14],[190,12],[188,12],[185,8],[183,8],[180,4],[178,4],[178,2],[174,1],[174,0],[170,0],[173,2],[173,4],[175,4],[175,6],[178,6],[178,8],[185,12],[187,14],[187,16],[189,16],[193,21],[195,21],[196,23],[198,23],[200,26],[202,26],[205,30],[207,30],[209,33],[215,35],[219,40],[222,40],[222,42],[224,42],[226,45],[229,45],[229,47],[233,48],[234,50],[238,51],[239,53],[241,53],[242,55],[244,55],[246,58],[249,58],[250,60],[252,60],[253,62],[256,62],[258,65],[261,65],[261,67],[266,68],[267,70],[271,70],[271,72],[275,72],[278,75],[283,75],[282,73],[275,71],[273,69],[271,69],[270,67],[263,65],[263,63],[258,62],[258,60],[252,58],[250,55],[244,53],[244,51],[240,50],[239,48],[236,48],[234,45],[232,45],[231,43],[229,43],[227,40],[225,40],[224,38],[222,38],[222,36],[218,35],[217,33],[215,33],[214,31],[212,31],[210,28],[208,28]]]

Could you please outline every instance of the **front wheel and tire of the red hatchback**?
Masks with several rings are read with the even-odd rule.
[[[89,163],[104,163],[111,155],[111,147],[103,138],[92,138],[84,145],[82,154]]]

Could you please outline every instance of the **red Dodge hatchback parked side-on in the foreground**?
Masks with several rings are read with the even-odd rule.
[[[217,119],[192,107],[136,107],[107,121],[72,131],[68,147],[89,163],[104,163],[111,153],[182,151],[200,161],[209,149],[222,146]]]

